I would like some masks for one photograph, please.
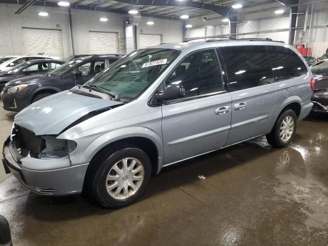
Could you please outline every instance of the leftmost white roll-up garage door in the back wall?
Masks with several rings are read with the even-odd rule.
[[[61,30],[23,28],[23,45],[27,55],[45,53],[64,58]]]

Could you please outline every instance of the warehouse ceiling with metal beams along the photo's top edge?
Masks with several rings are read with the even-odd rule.
[[[71,4],[71,8],[80,8],[90,10],[104,10],[108,9],[111,12],[127,13],[130,9],[137,8],[141,15],[153,16],[159,18],[171,18],[177,19],[181,15],[189,15],[192,17],[206,16],[213,13],[220,15],[226,15],[229,12],[232,5],[241,3],[243,9],[279,3],[278,0],[66,0]],[[2,2],[2,1],[0,1]],[[26,1],[19,0],[22,4]],[[35,1],[33,5],[49,5],[54,6],[58,0],[47,0],[47,1]],[[133,3],[133,4],[131,4]],[[141,5],[147,3],[147,5]],[[160,6],[159,6],[160,5]],[[171,5],[171,6],[170,6]],[[172,6],[175,5],[175,6]],[[188,7],[186,5],[197,6]]]

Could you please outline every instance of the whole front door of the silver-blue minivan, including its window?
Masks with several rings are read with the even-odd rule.
[[[179,84],[183,98],[162,105],[164,164],[220,149],[228,139],[231,96],[224,90],[215,49],[186,56],[166,80]]]

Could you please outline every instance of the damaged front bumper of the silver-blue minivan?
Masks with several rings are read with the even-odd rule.
[[[29,155],[18,160],[10,137],[4,143],[3,165],[27,189],[41,195],[70,195],[81,193],[88,163],[71,166],[69,159],[36,159]],[[55,168],[58,166],[67,167]]]

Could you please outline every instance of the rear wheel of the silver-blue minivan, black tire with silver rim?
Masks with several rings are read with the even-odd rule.
[[[286,119],[287,121],[284,122],[284,124],[286,124],[286,122],[289,121],[290,117],[293,119],[293,129],[288,128],[287,130],[283,131],[280,128],[282,128],[282,124],[284,122],[284,120]],[[290,125],[290,124],[287,124]],[[297,128],[297,116],[294,110],[292,109],[288,109],[286,111],[284,111],[283,113],[281,113],[275,123],[275,125],[273,126],[271,132],[269,134],[267,134],[267,140],[269,142],[270,145],[276,147],[276,148],[283,148],[288,146],[291,141],[294,138],[295,132],[296,132],[296,128]],[[281,133],[281,131],[283,131]],[[282,135],[281,134],[285,134]],[[288,134],[287,134],[288,133]],[[285,136],[285,139],[283,140],[283,136]]]

